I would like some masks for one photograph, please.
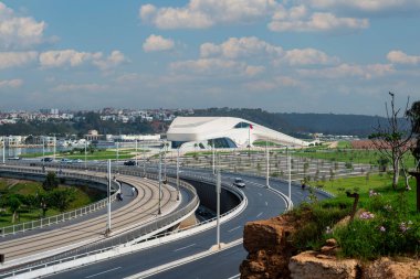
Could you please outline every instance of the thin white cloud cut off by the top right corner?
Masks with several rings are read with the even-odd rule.
[[[387,10],[410,11],[420,8],[418,0],[304,0],[314,8],[321,9],[356,9],[364,12],[380,12]]]

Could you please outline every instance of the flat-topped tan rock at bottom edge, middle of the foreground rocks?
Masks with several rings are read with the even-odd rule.
[[[337,260],[336,257],[317,257],[315,251],[304,251],[291,258],[291,278],[300,279],[351,279],[358,278],[359,267],[355,259]]]

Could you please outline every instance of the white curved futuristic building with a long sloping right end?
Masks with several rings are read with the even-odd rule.
[[[214,141],[216,148],[244,148],[256,140],[307,147],[309,142],[290,137],[264,126],[235,117],[177,117],[169,126],[168,141],[172,148],[199,146],[208,149]]]

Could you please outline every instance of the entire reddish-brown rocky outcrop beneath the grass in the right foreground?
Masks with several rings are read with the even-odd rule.
[[[243,246],[249,255],[240,266],[241,278],[300,278],[300,279],[412,279],[420,278],[420,261],[381,258],[370,264],[355,259],[337,259],[339,249],[335,239],[326,240],[321,251],[298,255],[288,236],[302,224],[282,215],[267,221],[250,222],[244,227]]]

